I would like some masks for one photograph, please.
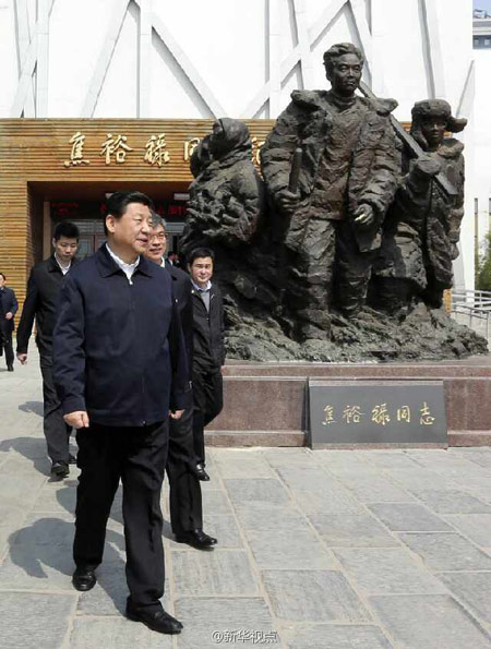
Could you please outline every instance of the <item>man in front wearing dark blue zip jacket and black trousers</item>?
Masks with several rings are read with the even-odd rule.
[[[143,256],[152,207],[140,192],[109,197],[107,243],[81,262],[61,289],[53,368],[64,420],[77,429],[73,586],[86,591],[96,584],[121,480],[127,617],[175,634],[182,625],[160,603],[160,490],[169,409],[181,417],[189,376],[172,280]]]

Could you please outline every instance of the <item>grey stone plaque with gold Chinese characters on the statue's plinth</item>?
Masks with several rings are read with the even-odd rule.
[[[312,448],[446,446],[443,381],[309,381]]]

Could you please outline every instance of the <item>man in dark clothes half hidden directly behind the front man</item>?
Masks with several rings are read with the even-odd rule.
[[[193,359],[193,305],[189,275],[165,260],[167,249],[166,224],[158,214],[152,215],[152,232],[145,256],[165,268],[172,278],[172,286],[181,317],[189,375]],[[196,459],[193,446],[193,400],[187,395],[187,405],[180,419],[169,420],[169,455],[167,476],[170,486],[170,524],[179,543],[188,543],[199,550],[208,550],[217,540],[203,531],[203,505],[201,485],[196,476]]]

